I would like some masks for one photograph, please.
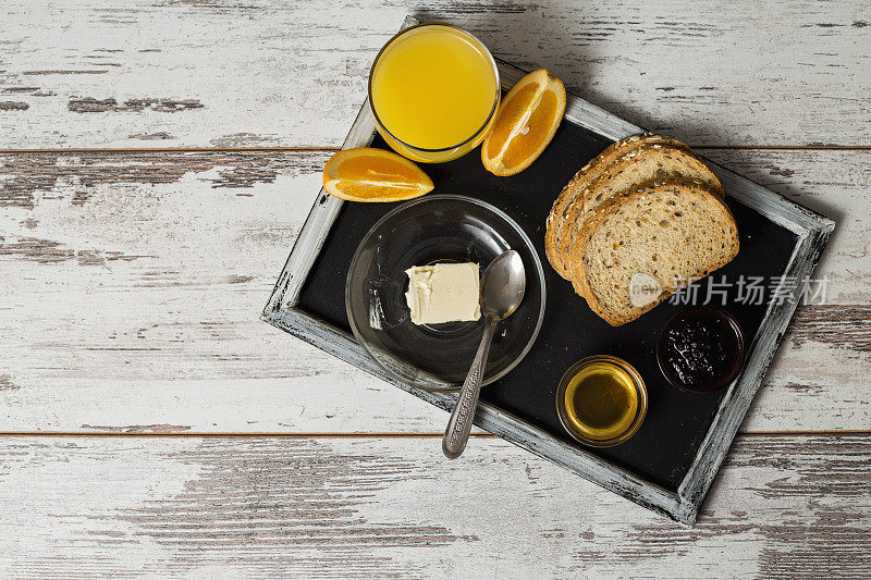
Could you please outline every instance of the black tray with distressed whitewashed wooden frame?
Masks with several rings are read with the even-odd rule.
[[[408,17],[403,27],[413,24],[416,21]],[[511,64],[496,63],[503,90],[525,74]],[[511,373],[483,388],[475,423],[633,502],[692,523],[802,292],[802,284],[788,281],[810,276],[835,224],[708,161],[723,181],[741,234],[737,258],[714,275],[731,283],[726,309],[751,342],[746,369],[732,386],[706,394],[678,392],[660,375],[652,348],[663,322],[682,307],[663,304],[613,329],[590,311],[544,258],[544,220],[562,187],[612,141],[641,131],[569,94],[565,119],[553,141],[520,174],[495,177],[487,173],[478,151],[425,170],[436,183],[433,193],[479,197],[512,215],[545,264],[548,301],[536,345]],[[343,148],[363,146],[387,148],[376,133],[368,101]],[[393,207],[344,203],[321,189],[262,319],[447,410],[453,408],[455,394],[422,392],[387,375],[354,341],[345,314],[344,285],[353,251],[369,227]],[[741,304],[735,284],[741,275],[787,281],[780,293],[788,299]],[[631,362],[645,378],[650,400],[638,433],[606,449],[575,442],[563,430],[555,410],[555,391],[563,372],[578,359],[600,353]]]

